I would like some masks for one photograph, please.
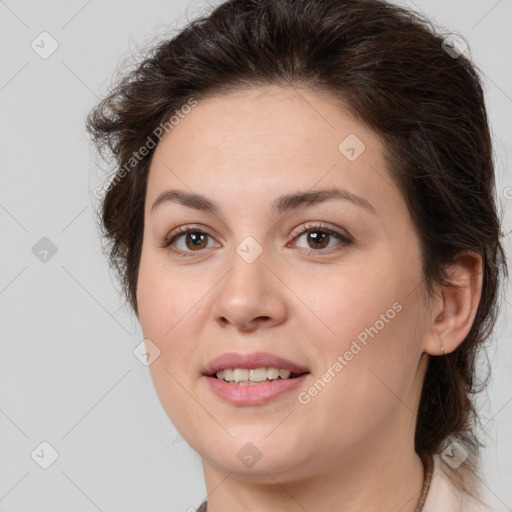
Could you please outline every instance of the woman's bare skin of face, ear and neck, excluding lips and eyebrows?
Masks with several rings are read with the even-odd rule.
[[[338,149],[349,134],[366,146],[354,161]],[[278,196],[330,186],[376,214],[340,199],[271,209]],[[203,194],[220,213],[175,202],[152,212],[168,189]],[[331,236],[315,245],[318,229],[304,225],[318,222],[352,243]],[[161,247],[189,224],[209,235],[199,249],[179,233],[173,247],[189,256]],[[252,263],[236,252],[248,236],[263,251]],[[460,288],[439,289],[425,304],[419,237],[382,143],[327,94],[267,86],[210,97],[162,138],[146,192],[139,319],[160,350],[150,371],[162,406],[202,458],[209,512],[414,511],[428,357],[464,339],[481,293],[478,255],[461,255],[450,270]],[[397,302],[400,312],[300,403],[299,392]],[[268,404],[234,406],[201,375],[227,351],[271,352],[310,375]],[[237,457],[248,442],[261,453],[251,468]]]

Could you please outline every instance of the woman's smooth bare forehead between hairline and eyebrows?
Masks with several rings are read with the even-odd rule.
[[[398,190],[380,138],[326,93],[268,86],[198,101],[155,149],[148,198],[179,188],[220,202],[343,187],[373,203]],[[316,186],[318,184],[318,186]],[[391,198],[388,198],[391,199]]]

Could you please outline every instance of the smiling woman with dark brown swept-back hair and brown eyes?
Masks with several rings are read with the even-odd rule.
[[[471,396],[506,266],[460,43],[381,0],[231,0],[90,114],[198,510],[489,510]]]

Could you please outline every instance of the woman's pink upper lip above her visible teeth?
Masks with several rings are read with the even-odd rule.
[[[203,369],[203,375],[213,375],[226,368],[279,368],[291,373],[309,373],[304,366],[288,361],[268,352],[226,352],[210,361]]]

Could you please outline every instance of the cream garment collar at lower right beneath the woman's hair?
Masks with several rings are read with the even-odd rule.
[[[441,456],[434,455],[432,481],[422,512],[495,512],[457,489],[443,465]]]

